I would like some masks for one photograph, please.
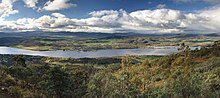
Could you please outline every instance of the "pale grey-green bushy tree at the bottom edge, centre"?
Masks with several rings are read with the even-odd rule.
[[[139,90],[129,79],[128,73],[114,76],[102,71],[95,74],[88,83],[86,98],[138,98]]]

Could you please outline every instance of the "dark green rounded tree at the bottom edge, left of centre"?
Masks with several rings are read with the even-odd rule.
[[[44,75],[44,80],[40,82],[46,94],[55,98],[70,97],[71,84],[71,75],[61,66],[51,67]]]

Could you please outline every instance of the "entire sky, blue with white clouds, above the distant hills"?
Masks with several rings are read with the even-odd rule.
[[[0,32],[220,33],[220,0],[0,0]]]

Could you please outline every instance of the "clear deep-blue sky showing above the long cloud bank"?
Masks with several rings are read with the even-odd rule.
[[[42,7],[48,0],[39,0],[37,6]],[[42,15],[48,15],[54,12],[65,14],[70,18],[86,18],[88,13],[98,10],[119,10],[124,9],[127,12],[144,9],[156,9],[159,4],[166,5],[166,8],[181,10],[184,12],[194,12],[209,8],[215,4],[207,2],[175,2],[174,0],[70,0],[69,3],[76,4],[77,7],[70,7],[58,11],[38,12],[36,9],[27,8],[24,2],[15,2],[14,9],[18,9],[19,13],[7,17],[9,20],[29,17],[37,18]]]

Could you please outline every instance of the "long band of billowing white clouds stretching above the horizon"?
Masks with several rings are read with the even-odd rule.
[[[220,7],[195,13],[172,9],[138,10],[129,13],[121,9],[93,11],[89,15],[89,18],[76,19],[52,13],[37,19],[0,20],[0,30],[108,33],[219,33],[220,30]]]

